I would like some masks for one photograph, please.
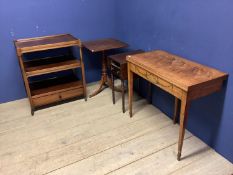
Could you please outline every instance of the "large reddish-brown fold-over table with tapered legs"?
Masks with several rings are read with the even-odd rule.
[[[165,51],[152,51],[127,57],[129,81],[129,113],[132,117],[133,74],[152,82],[181,100],[180,131],[177,159],[181,158],[188,109],[192,100],[221,89],[227,74],[181,58]],[[175,116],[174,115],[174,116]],[[174,118],[174,121],[176,118]]]

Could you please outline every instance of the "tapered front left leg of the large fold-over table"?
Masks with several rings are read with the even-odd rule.
[[[130,64],[128,63],[128,88],[129,88],[129,115],[133,117],[133,72],[130,70]]]

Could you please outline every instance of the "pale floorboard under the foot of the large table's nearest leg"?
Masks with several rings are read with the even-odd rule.
[[[174,144],[163,151],[156,152],[144,159],[133,162],[128,166],[119,168],[109,173],[111,175],[153,175],[153,174],[170,174],[177,169],[183,168],[193,162],[201,159],[203,156],[212,154],[212,150],[196,137],[185,139],[182,161],[176,160],[177,144]],[[171,156],[172,155],[172,156]],[[200,173],[200,172],[199,172]],[[188,171],[186,174],[189,174]]]

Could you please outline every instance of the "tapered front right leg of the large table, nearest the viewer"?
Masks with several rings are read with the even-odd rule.
[[[184,99],[181,101],[180,131],[179,131],[178,154],[177,154],[178,161],[180,161],[180,158],[181,158],[181,152],[182,152],[184,135],[185,135],[185,126],[187,123],[189,106],[190,106],[190,102],[187,102],[187,99]]]

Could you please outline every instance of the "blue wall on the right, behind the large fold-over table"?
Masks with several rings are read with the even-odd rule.
[[[127,0],[117,4],[118,37],[132,48],[166,50],[230,74],[221,92],[192,103],[188,128],[231,162],[232,7],[232,0]],[[174,98],[156,87],[153,104],[172,116]]]

